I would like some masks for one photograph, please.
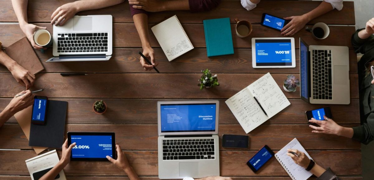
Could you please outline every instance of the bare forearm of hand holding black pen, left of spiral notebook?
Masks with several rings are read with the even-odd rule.
[[[148,16],[144,13],[140,13],[132,16],[132,19],[134,20],[135,27],[137,28],[143,49],[146,47],[151,47],[148,34]]]

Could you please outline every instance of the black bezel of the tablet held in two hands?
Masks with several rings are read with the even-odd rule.
[[[68,146],[71,145],[71,136],[111,136],[112,137],[112,154],[113,159],[116,158],[116,139],[113,132],[68,132]],[[109,161],[107,158],[73,158],[73,153],[70,153],[71,161]]]

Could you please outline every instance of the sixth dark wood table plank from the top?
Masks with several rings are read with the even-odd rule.
[[[359,124],[347,124],[354,127]],[[5,124],[0,129],[0,149],[30,149],[28,141],[18,124]],[[119,124],[67,124],[65,132],[114,132],[116,143],[126,150],[157,150],[157,125],[119,125]],[[219,125],[219,135],[245,134],[240,125]],[[287,133],[285,133],[287,132]],[[258,150],[264,142],[272,149],[281,149],[295,137],[303,147],[309,149],[360,149],[358,141],[335,135],[314,134],[312,128],[303,125],[263,124],[248,133],[249,149]],[[222,149],[222,147],[221,147]],[[223,148],[226,149],[226,148]]]

